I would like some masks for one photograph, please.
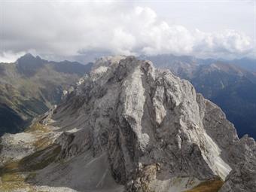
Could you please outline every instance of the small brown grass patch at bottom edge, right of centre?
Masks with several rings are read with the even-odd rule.
[[[224,184],[220,178],[216,178],[209,181],[203,181],[191,190],[186,190],[186,192],[218,192],[221,186]]]

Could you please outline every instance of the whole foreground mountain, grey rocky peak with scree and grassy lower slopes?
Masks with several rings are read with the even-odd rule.
[[[254,191],[254,140],[239,140],[221,109],[188,81],[115,56],[99,59],[79,84],[38,120],[44,129],[23,133],[47,138],[40,150],[35,139],[17,157],[8,137],[19,135],[2,137],[2,177],[29,171],[24,182],[49,191]]]

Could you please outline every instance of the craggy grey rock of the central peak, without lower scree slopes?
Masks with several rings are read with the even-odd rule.
[[[70,103],[74,105],[66,108]],[[173,177],[225,179],[236,164],[226,153],[239,139],[221,109],[188,81],[154,69],[149,61],[133,56],[99,59],[53,119],[73,110],[75,117],[84,118],[70,148],[86,138],[78,154],[87,148],[95,156],[107,151],[111,174],[120,184],[139,189],[139,170],[156,163],[160,172],[154,180],[159,183]],[[66,153],[75,155],[74,150]]]

